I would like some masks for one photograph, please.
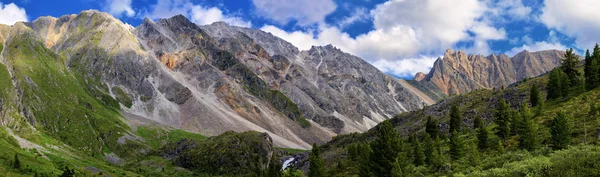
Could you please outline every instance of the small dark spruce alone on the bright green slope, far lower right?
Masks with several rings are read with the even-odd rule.
[[[554,149],[564,149],[571,143],[571,123],[569,118],[563,112],[550,123],[550,134],[552,135],[552,145]]]

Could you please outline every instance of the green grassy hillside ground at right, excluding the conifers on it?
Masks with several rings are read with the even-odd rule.
[[[600,99],[600,89],[583,91],[574,88],[566,97],[546,100],[541,108],[531,108],[533,114],[536,134],[531,135],[537,139],[539,146],[535,150],[523,150],[519,143],[524,138],[519,135],[510,135],[505,141],[494,135],[498,125],[496,122],[496,111],[500,99],[506,100],[513,110],[518,111],[523,105],[530,107],[530,89],[537,86],[542,90],[542,97],[546,98],[544,90],[547,88],[548,76],[534,79],[526,79],[513,84],[505,89],[479,89],[471,93],[450,96],[441,102],[427,106],[422,110],[402,113],[390,120],[394,129],[399,132],[404,141],[404,160],[401,162],[409,164],[402,169],[404,175],[417,176],[579,176],[598,174],[597,164],[600,159],[597,156],[600,143],[600,121],[596,112],[597,104],[594,100]],[[459,132],[460,139],[464,142],[465,155],[459,159],[452,157],[451,134],[448,132],[450,122],[450,108],[455,104],[462,116],[462,131]],[[559,113],[564,113],[571,123],[572,141],[569,148],[556,150],[552,146],[550,126],[552,120]],[[518,114],[518,113],[517,113]],[[431,116],[435,127],[442,133],[442,138],[434,139],[438,143],[439,161],[437,165],[413,165],[415,160],[415,145],[409,137],[416,137],[420,141],[421,148],[430,146],[427,144],[426,123],[427,117]],[[478,150],[478,128],[474,128],[474,120],[481,118],[484,127],[489,131],[487,150]],[[381,124],[378,125],[381,127]],[[335,137],[331,142],[322,146],[322,157],[327,161],[327,167],[336,176],[355,176],[359,174],[361,157],[351,154],[351,149],[364,146],[364,142],[373,142],[377,139],[377,127],[366,133],[341,135]],[[423,150],[423,149],[421,149]],[[365,151],[363,148],[362,151]],[[361,151],[359,151],[361,154]],[[425,153],[427,154],[427,153]],[[426,155],[427,156],[427,155]],[[428,156],[429,157],[429,156]],[[358,158],[359,160],[356,160]],[[580,159],[576,159],[580,158]],[[353,160],[355,159],[355,160]],[[298,164],[303,164],[299,162]],[[300,165],[300,169],[305,169]],[[597,168],[596,168],[597,169]]]

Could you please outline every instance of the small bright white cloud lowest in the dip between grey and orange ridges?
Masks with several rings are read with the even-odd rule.
[[[429,73],[433,63],[438,57],[421,56],[420,58],[408,58],[403,60],[378,60],[373,62],[373,66],[379,70],[399,76],[402,78],[412,78],[416,73]]]

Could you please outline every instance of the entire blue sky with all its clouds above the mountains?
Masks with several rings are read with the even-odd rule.
[[[515,55],[600,41],[599,0],[0,0],[0,23],[97,9],[137,26],[177,14],[271,32],[300,49],[333,44],[412,78],[446,49]]]

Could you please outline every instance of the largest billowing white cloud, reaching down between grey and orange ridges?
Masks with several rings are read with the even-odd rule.
[[[488,41],[506,39],[503,28],[495,28],[492,20],[483,18],[491,10],[489,5],[478,0],[388,1],[369,13],[374,29],[356,37],[326,24],[305,31],[286,32],[274,26],[262,30],[302,50],[332,44],[385,72],[408,76],[427,72],[433,65],[435,58],[422,55],[439,55],[460,41],[474,44],[465,49],[469,52],[488,54]]]

